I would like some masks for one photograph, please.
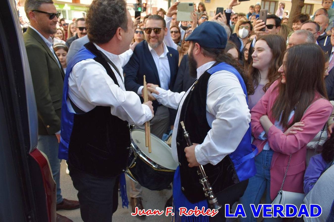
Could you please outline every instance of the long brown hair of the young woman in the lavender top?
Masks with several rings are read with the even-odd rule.
[[[268,70],[269,83],[267,83],[263,88],[263,90],[266,92],[268,88],[280,77],[278,69],[282,66],[286,43],[283,37],[279,35],[264,35],[257,41],[259,40],[264,40],[273,53],[273,57],[270,61]],[[248,54],[248,57],[249,56],[252,55]],[[249,65],[249,75],[252,77],[254,88],[256,88],[259,85],[259,80],[261,76],[259,70],[253,67],[253,60],[252,63]]]

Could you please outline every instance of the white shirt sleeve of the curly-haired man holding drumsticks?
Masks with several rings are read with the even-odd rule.
[[[138,95],[123,91],[108,76],[103,66],[94,60],[83,60],[74,65],[71,79],[75,81],[80,100],[94,106],[110,106],[111,114],[130,124],[142,125],[153,115],[147,105],[141,104]]]

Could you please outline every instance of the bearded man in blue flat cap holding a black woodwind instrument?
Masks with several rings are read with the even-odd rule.
[[[190,41],[190,75],[197,81],[187,92],[173,93],[153,84],[148,84],[148,90],[164,106],[178,109],[172,135],[173,158],[179,162],[173,182],[175,210],[208,207],[197,174],[196,166],[201,164],[222,205],[209,221],[225,221],[225,204],[237,201],[248,178],[256,173],[257,148],[251,145],[247,79],[224,53],[227,35],[221,25],[204,22],[185,41]],[[184,139],[180,121],[192,146],[188,147]],[[175,215],[178,217],[178,212]]]

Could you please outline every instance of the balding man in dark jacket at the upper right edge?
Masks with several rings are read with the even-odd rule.
[[[326,28],[328,27],[329,18],[325,15],[318,15],[314,21],[318,23],[320,26],[319,30],[319,37],[317,42],[319,46],[322,48],[325,54],[328,54],[332,50],[332,44],[330,42],[330,36],[328,36],[325,32]]]

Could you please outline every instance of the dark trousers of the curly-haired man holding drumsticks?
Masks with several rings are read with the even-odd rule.
[[[84,222],[111,222],[118,206],[119,177],[103,178],[68,166],[78,191],[81,219]]]

